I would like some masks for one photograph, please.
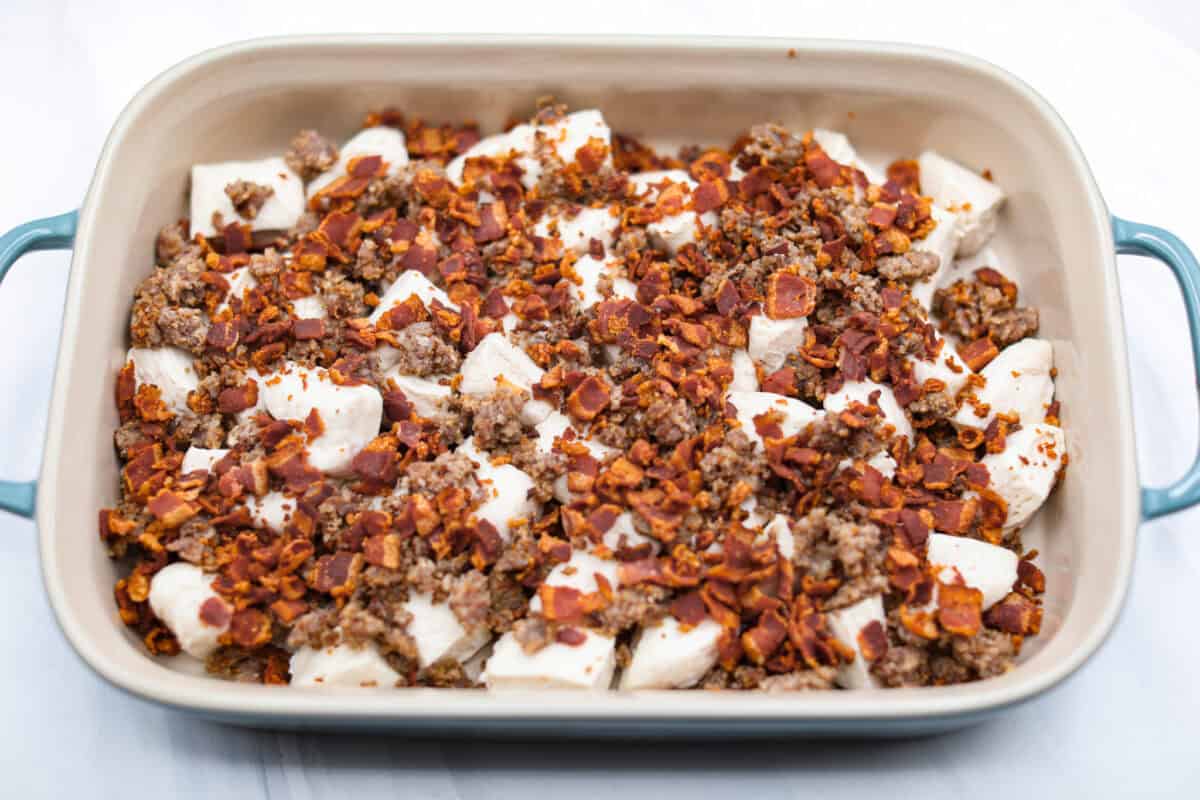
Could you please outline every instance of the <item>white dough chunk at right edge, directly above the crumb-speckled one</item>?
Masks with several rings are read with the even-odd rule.
[[[997,414],[1016,414],[1021,425],[1042,422],[1046,407],[1054,399],[1054,347],[1046,339],[1025,338],[1000,351],[979,374],[988,383],[976,392],[979,403],[988,405],[986,416],[979,416],[971,401],[954,416],[958,425],[986,428]]]

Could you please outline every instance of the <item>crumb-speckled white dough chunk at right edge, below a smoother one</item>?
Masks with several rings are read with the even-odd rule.
[[[1026,425],[1004,439],[1004,449],[984,456],[989,486],[1008,504],[1006,528],[1025,524],[1050,497],[1067,443],[1062,428]]]

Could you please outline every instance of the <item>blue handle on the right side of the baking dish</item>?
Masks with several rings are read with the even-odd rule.
[[[1112,239],[1118,253],[1150,255],[1171,267],[1183,291],[1192,333],[1192,359],[1200,380],[1200,261],[1178,236],[1169,230],[1112,217]],[[1141,516],[1154,519],[1200,503],[1200,453],[1183,477],[1164,488],[1141,489]]]

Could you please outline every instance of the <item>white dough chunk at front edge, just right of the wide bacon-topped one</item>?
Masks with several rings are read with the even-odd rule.
[[[622,673],[620,688],[688,688],[695,686],[716,663],[716,642],[721,626],[710,619],[686,631],[679,620],[666,616],[643,628],[634,657]]]

